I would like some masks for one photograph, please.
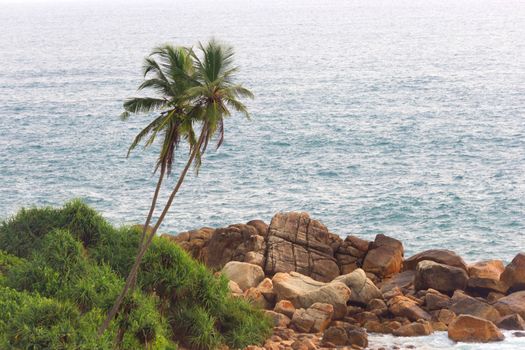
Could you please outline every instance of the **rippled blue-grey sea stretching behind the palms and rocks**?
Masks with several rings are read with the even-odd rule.
[[[125,157],[149,117],[121,122],[122,101],[153,47],[211,36],[253,118],[227,121],[163,232],[301,210],[406,255],[524,250],[522,1],[0,4],[0,217],[81,197],[142,222],[155,151]]]

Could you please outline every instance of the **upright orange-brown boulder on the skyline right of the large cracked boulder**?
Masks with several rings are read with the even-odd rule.
[[[380,278],[390,277],[401,270],[403,254],[403,244],[400,241],[379,234],[369,246],[363,270]]]

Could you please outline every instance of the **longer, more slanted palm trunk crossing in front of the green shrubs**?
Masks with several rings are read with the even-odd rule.
[[[184,170],[180,174],[179,180],[177,181],[177,184],[175,185],[175,188],[171,192],[171,195],[170,195],[170,197],[168,199],[168,202],[164,206],[164,209],[162,210],[162,213],[160,214],[160,217],[157,220],[157,223],[155,224],[155,226],[151,230],[151,232],[150,232],[150,234],[148,236],[148,239],[143,244],[143,246],[140,248],[139,253],[137,254],[137,257],[135,258],[135,262],[133,263],[133,266],[131,267],[131,271],[129,272],[129,275],[126,278],[126,284],[124,285],[124,288],[120,292],[120,295],[118,296],[117,300],[115,301],[115,304],[113,304],[113,307],[109,311],[106,319],[104,320],[102,325],[99,327],[99,329],[98,329],[98,336],[99,337],[102,334],[104,334],[106,329],[109,327],[109,324],[110,324],[111,320],[113,320],[113,318],[115,317],[115,315],[117,314],[117,312],[118,312],[118,310],[120,308],[120,305],[122,304],[122,301],[124,301],[124,298],[126,297],[126,295],[128,293],[128,290],[133,285],[133,283],[135,281],[135,278],[136,278],[136,275],[138,273],[139,267],[140,267],[140,263],[142,262],[142,258],[144,257],[144,254],[146,253],[146,250],[151,245],[151,242],[153,242],[153,238],[155,237],[155,234],[157,233],[157,230],[159,229],[160,224],[162,223],[162,221],[164,220],[164,217],[168,213],[168,210],[171,207],[171,203],[173,202],[173,199],[175,199],[175,195],[179,191],[179,188],[182,185],[182,182],[184,181],[184,178],[186,177],[186,174],[188,173],[188,170],[189,170],[191,164],[193,163],[193,160],[195,159],[195,156],[197,155],[197,152],[199,152],[199,150],[200,150],[200,148],[202,146],[202,143],[204,141],[204,136],[206,135],[206,128],[207,128],[207,125],[205,124],[202,127],[201,135],[199,137],[199,141],[197,142],[196,147],[191,152],[190,158],[188,159],[188,162],[186,163],[186,166],[184,167]]]

